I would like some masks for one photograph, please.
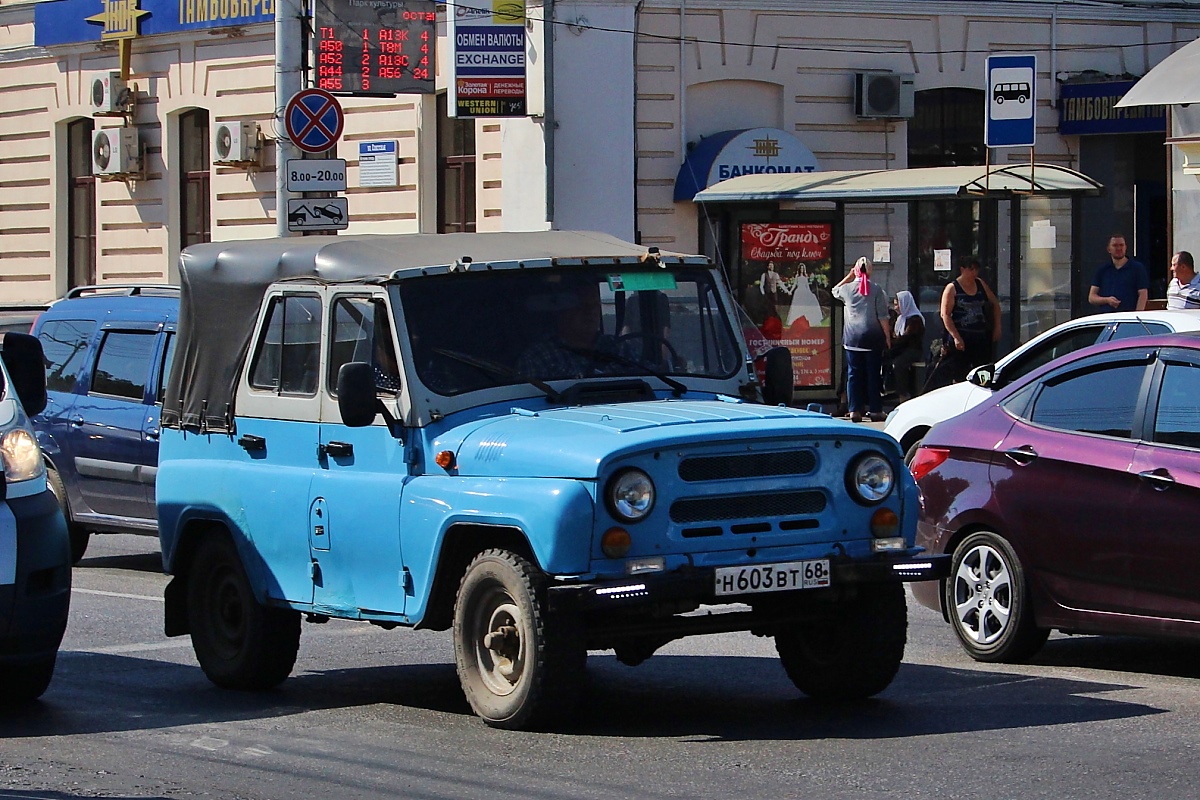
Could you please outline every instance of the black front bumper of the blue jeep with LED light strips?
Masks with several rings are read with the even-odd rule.
[[[841,591],[854,585],[937,581],[950,573],[949,555],[854,561],[830,559],[830,587]],[[652,572],[629,578],[606,578],[584,583],[552,584],[552,607],[569,604],[575,610],[630,609],[640,606],[676,606],[682,609],[700,604],[742,603],[766,597],[812,595],[827,589],[797,589],[776,593],[716,595],[714,567],[685,567],[672,572]]]

